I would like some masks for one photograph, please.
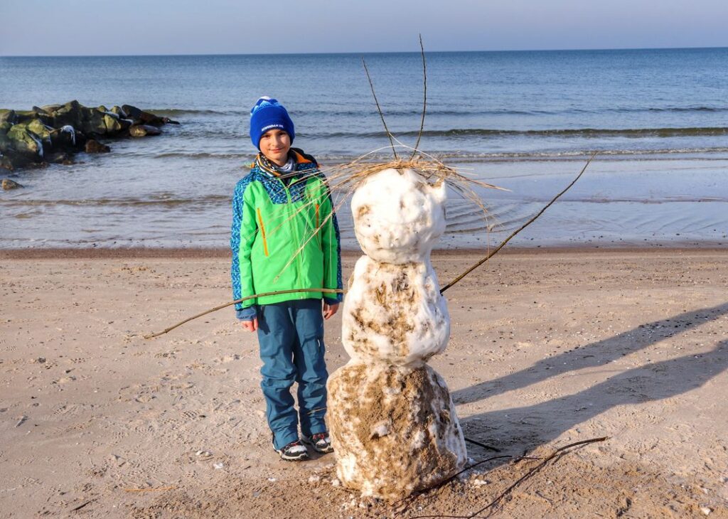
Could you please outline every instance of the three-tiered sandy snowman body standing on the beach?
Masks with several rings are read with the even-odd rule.
[[[328,422],[339,480],[365,496],[408,496],[467,459],[450,392],[427,365],[450,334],[430,263],[445,201],[442,179],[392,168],[369,175],[352,197],[365,255],[344,300],[341,337],[351,360],[328,380]]]

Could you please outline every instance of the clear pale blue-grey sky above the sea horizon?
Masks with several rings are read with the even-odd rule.
[[[5,56],[728,47],[728,0],[0,0],[0,26]]]

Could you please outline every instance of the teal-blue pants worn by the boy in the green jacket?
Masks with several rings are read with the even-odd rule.
[[[266,417],[280,449],[302,435],[325,432],[326,380],[323,316],[320,299],[302,299],[258,307],[261,388]],[[298,383],[298,412],[290,394]]]

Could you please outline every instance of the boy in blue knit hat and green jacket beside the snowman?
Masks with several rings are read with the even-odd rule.
[[[316,160],[298,148],[288,111],[272,98],[250,110],[250,140],[260,153],[235,186],[232,201],[233,298],[300,288],[341,289],[339,226]],[[323,299],[323,302],[322,302]],[[306,445],[333,451],[326,430],[323,320],[340,293],[295,292],[235,305],[242,328],[258,332],[261,388],[274,449],[308,459]],[[298,414],[290,387],[298,382]]]

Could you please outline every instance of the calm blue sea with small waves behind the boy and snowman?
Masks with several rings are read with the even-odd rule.
[[[74,165],[0,172],[0,248],[227,247],[256,149],[250,106],[280,100],[324,170],[415,146],[467,178],[440,247],[494,247],[582,178],[516,247],[728,245],[728,48],[0,57],[0,108],[131,104],[181,124]],[[424,78],[427,73],[427,100]],[[341,242],[357,249],[347,200]],[[483,211],[483,207],[485,211]]]

